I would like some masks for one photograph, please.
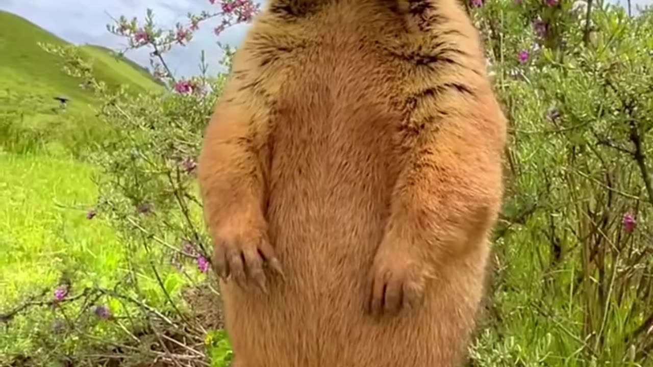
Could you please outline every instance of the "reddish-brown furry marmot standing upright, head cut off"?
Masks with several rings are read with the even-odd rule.
[[[464,361],[505,117],[458,0],[270,0],[199,159],[236,367]]]

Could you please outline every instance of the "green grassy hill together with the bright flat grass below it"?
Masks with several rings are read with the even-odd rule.
[[[0,11],[0,313],[44,290],[51,298],[62,274],[71,276],[75,289],[111,287],[125,253],[108,223],[86,218],[97,200],[91,180],[97,168],[84,157],[110,133],[95,117],[99,100],[39,42],[68,44]],[[81,50],[110,88],[163,91],[132,61],[99,46]],[[59,95],[70,99],[65,110],[54,99]],[[34,352],[52,317],[48,308],[16,315],[12,328],[0,332],[0,364],[13,353]]]

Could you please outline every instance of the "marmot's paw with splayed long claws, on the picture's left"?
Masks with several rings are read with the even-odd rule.
[[[215,231],[215,272],[224,281],[231,276],[240,287],[246,287],[253,280],[267,293],[265,270],[277,272],[283,279],[281,264],[270,246],[262,221],[236,217],[229,220],[229,225]]]

